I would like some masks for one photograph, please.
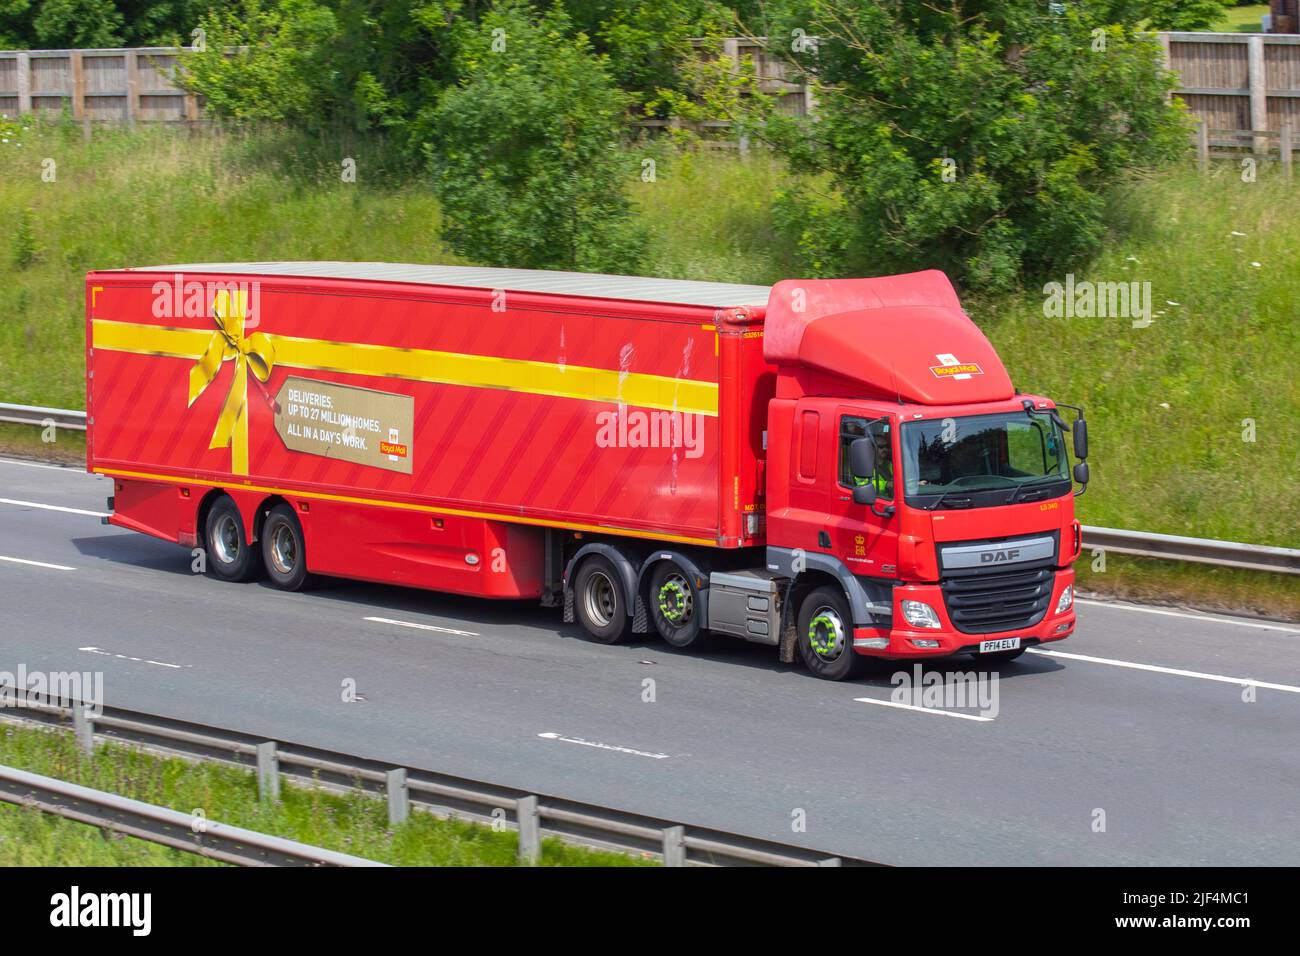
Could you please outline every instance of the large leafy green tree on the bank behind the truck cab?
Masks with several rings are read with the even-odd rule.
[[[764,129],[802,174],[777,213],[818,274],[1054,273],[1097,250],[1109,183],[1186,148],[1160,46],[1123,0],[793,4],[780,43],[816,83],[816,121]]]

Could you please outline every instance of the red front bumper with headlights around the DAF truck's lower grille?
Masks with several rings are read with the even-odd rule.
[[[1065,568],[1053,575],[1052,597],[1048,601],[1048,613],[1037,624],[997,633],[965,633],[958,631],[948,617],[948,607],[944,602],[944,592],[937,584],[904,584],[893,591],[893,619],[905,622],[902,615],[902,601],[920,601],[928,604],[939,615],[940,626],[931,627],[904,627],[875,628],[857,627],[853,631],[853,649],[866,657],[883,657],[889,661],[902,661],[919,657],[948,657],[978,652],[980,641],[1001,640],[1005,637],[1019,637],[1020,646],[1046,644],[1060,641],[1074,633],[1074,605],[1061,614],[1056,613],[1061,593],[1074,587],[1074,570]],[[924,644],[918,645],[918,641]],[[935,646],[927,646],[928,644]]]

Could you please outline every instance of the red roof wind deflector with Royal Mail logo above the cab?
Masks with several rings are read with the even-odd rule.
[[[937,271],[852,280],[785,280],[763,323],[764,358],[861,382],[919,405],[1011,398],[1011,380]]]

